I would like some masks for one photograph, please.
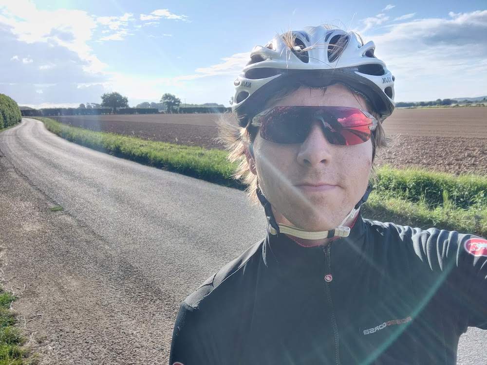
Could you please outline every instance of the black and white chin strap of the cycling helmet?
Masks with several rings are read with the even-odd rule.
[[[358,203],[356,203],[355,207],[350,211],[350,213],[343,219],[340,225],[328,231],[319,231],[319,232],[312,232],[312,231],[305,231],[303,229],[297,227],[287,226],[285,224],[280,224],[276,222],[274,218],[274,214],[272,213],[271,204],[265,197],[262,195],[262,191],[259,187],[257,187],[257,197],[261,202],[262,206],[264,207],[265,216],[267,218],[268,223],[268,231],[271,235],[279,235],[280,233],[291,235],[298,238],[303,239],[323,239],[323,238],[332,238],[332,237],[348,237],[350,235],[350,227],[345,226],[345,222],[352,218],[356,212],[360,209],[362,204],[367,201],[369,198],[369,194],[372,191],[372,187],[369,185],[367,186],[367,190],[363,195],[362,199]]]

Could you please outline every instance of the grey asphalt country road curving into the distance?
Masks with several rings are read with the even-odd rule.
[[[181,300],[265,234],[242,191],[75,145],[33,119],[0,133],[0,150],[0,218],[21,222],[0,236],[2,281],[43,364],[167,363]],[[487,364],[486,342],[469,329],[458,364]]]

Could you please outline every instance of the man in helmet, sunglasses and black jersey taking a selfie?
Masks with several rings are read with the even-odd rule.
[[[355,33],[257,46],[222,126],[267,236],[181,305],[170,364],[456,363],[487,329],[487,240],[362,219],[394,77]]]

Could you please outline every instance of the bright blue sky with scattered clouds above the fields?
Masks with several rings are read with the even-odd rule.
[[[229,106],[252,48],[333,24],[373,40],[395,101],[487,94],[487,4],[471,1],[0,0],[0,93],[31,107],[166,93]]]

